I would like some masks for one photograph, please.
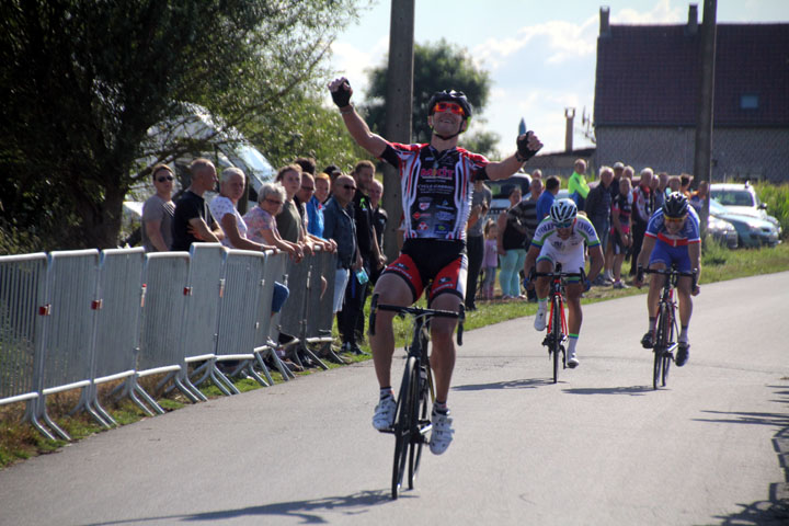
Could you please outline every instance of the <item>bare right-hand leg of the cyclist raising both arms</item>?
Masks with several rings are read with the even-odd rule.
[[[454,294],[439,294],[433,301],[431,308],[437,310],[451,310],[458,312],[462,299]],[[436,381],[436,400],[446,402],[449,396],[451,374],[455,369],[455,325],[457,319],[435,317],[431,320],[431,341],[433,352],[431,353],[431,368]]]

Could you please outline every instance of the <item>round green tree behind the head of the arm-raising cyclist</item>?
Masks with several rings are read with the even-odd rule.
[[[369,73],[368,103],[363,111],[370,126],[377,134],[386,129],[386,87],[387,67],[373,69]],[[474,125],[484,123],[482,111],[490,96],[490,75],[488,71],[474,66],[465,48],[454,46],[442,39],[436,44],[414,45],[414,75],[413,75],[413,115],[411,138],[418,142],[430,141],[432,132],[427,126],[427,103],[436,91],[457,90],[466,93],[473,106],[471,129]],[[499,140],[496,134],[477,132],[473,137],[461,139],[461,144],[481,147],[474,150],[488,156],[496,156],[493,145]]]

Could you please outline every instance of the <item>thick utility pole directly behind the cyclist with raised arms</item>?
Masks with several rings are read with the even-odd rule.
[[[391,0],[389,26],[389,68],[386,93],[386,138],[411,142],[413,102],[413,27],[415,0]],[[399,252],[397,232],[402,216],[402,195],[398,170],[384,164],[384,209],[389,221],[384,231],[384,250],[389,261]]]

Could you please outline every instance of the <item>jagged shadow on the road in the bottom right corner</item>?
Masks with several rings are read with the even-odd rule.
[[[771,400],[780,404],[789,404],[789,390],[787,386],[767,386],[776,389],[778,398]],[[778,427],[773,435],[773,448],[778,456],[778,464],[784,469],[784,480],[773,482],[767,489],[767,500],[751,504],[740,504],[741,510],[730,515],[718,515],[723,526],[786,526],[789,524],[789,414],[782,413],[748,413],[705,411],[718,418],[695,419],[698,422],[718,422],[724,424],[769,425]]]

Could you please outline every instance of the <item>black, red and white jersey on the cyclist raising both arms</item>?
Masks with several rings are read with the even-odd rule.
[[[380,157],[400,171],[405,239],[465,240],[476,179],[488,159],[462,148],[388,142]]]

